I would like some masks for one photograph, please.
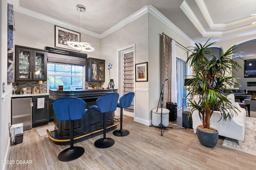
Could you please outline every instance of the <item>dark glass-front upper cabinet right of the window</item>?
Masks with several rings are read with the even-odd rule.
[[[105,60],[87,58],[86,59],[86,81],[104,82],[105,81]]]

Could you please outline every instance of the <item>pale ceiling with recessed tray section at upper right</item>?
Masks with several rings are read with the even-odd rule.
[[[204,43],[207,39],[219,41],[239,36],[256,35],[256,0],[13,0],[14,10],[33,17],[50,18],[55,23],[77,25],[76,5],[86,7],[87,33],[104,37],[129,16],[152,5],[182,31],[190,42]],[[121,22],[122,21],[122,22]],[[60,24],[56,24],[60,25]],[[245,51],[256,48],[243,47]]]

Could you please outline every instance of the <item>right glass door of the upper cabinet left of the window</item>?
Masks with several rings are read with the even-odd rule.
[[[46,52],[33,50],[33,80],[46,80],[46,55]]]

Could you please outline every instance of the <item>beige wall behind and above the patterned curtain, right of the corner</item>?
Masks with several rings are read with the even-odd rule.
[[[180,35],[160,22],[157,18],[149,14],[149,111],[157,107],[160,97],[161,83],[160,83],[160,34],[164,32],[166,35],[174,39],[176,42],[182,44],[184,47],[191,46]],[[176,45],[176,57],[186,60],[186,51]],[[174,61],[176,62],[176,61]],[[151,113],[149,113],[151,116]],[[151,117],[150,117],[151,119]]]

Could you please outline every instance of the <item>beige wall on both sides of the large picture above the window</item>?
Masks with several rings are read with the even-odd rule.
[[[49,23],[37,18],[14,12],[15,20],[15,44],[37,49],[55,46],[55,27]],[[94,52],[88,52],[88,57],[100,58],[101,40],[90,35],[81,33],[81,41],[92,43]],[[81,51],[81,53],[86,53]]]

